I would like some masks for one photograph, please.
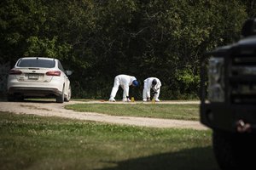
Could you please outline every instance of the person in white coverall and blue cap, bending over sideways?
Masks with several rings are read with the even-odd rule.
[[[129,99],[129,86],[131,85],[135,87],[139,85],[136,77],[131,77],[128,75],[119,75],[114,77],[113,88],[110,94],[109,101],[115,101],[114,97],[119,90],[119,86],[124,90],[123,101],[131,101],[131,99]]]

